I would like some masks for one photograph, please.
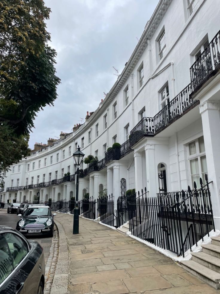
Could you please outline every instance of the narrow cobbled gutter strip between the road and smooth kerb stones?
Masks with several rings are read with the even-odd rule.
[[[49,250],[49,257],[47,263],[45,265],[45,286],[44,286],[44,294],[51,293],[51,286],[54,279],[54,273],[56,269],[56,262],[58,257],[58,244],[59,244],[59,233],[56,226],[54,230],[54,237],[52,238],[51,247]]]

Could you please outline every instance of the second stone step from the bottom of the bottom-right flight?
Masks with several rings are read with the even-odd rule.
[[[220,259],[204,252],[192,252],[192,260],[220,273]]]

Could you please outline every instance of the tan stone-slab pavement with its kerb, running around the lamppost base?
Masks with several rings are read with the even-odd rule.
[[[97,222],[57,214],[59,256],[52,294],[217,294],[218,290],[187,273],[146,245]]]

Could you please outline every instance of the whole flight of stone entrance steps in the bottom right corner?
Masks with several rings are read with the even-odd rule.
[[[182,260],[181,266],[205,283],[220,289],[220,236],[211,237],[212,244],[201,245],[201,252],[192,252],[192,260]]]

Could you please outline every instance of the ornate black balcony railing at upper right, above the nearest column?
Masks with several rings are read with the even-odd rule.
[[[192,87],[196,90],[210,76],[219,70],[220,66],[220,31],[211,40],[209,45],[204,49],[201,55],[190,67],[190,78]]]

